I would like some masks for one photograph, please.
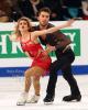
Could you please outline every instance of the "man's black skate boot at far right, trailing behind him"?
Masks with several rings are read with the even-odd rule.
[[[81,100],[81,95],[77,96],[69,95],[63,98],[63,101],[80,101],[80,100]]]

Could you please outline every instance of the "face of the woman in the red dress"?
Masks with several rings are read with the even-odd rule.
[[[24,31],[29,31],[29,23],[25,20],[21,20],[19,22],[19,31],[24,32]]]

